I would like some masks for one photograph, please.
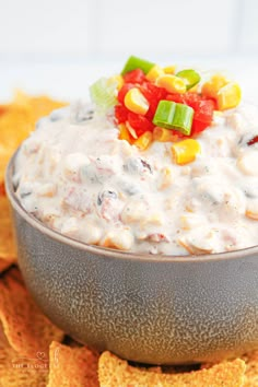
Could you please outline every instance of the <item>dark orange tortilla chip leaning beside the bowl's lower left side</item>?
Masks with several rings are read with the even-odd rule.
[[[10,345],[24,356],[48,354],[51,341],[63,338],[34,303],[16,268],[0,278],[0,321]]]

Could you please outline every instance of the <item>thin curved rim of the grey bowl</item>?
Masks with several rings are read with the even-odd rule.
[[[136,261],[145,261],[145,262],[209,262],[209,261],[227,261],[232,259],[241,259],[245,256],[258,255],[258,245],[233,250],[233,251],[224,251],[224,253],[215,253],[215,254],[203,254],[203,255],[187,255],[187,256],[178,256],[178,255],[151,255],[148,253],[132,253],[132,251],[124,251],[118,249],[112,249],[95,245],[89,245],[84,242],[77,241],[72,237],[63,235],[56,230],[50,228],[45,225],[42,221],[36,219],[34,215],[30,214],[19,202],[17,197],[14,192],[14,187],[12,184],[12,176],[14,169],[15,159],[20,151],[21,146],[13,153],[10,159],[7,169],[5,169],[5,179],[4,186],[7,191],[7,197],[12,206],[12,208],[33,227],[37,228],[40,233],[49,236],[50,238],[58,241],[64,245],[69,245],[70,247],[75,247],[81,250],[85,250],[91,254],[97,254],[105,258],[113,258],[119,260],[136,260]]]

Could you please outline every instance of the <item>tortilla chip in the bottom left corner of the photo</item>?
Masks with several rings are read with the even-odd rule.
[[[45,387],[48,362],[21,357],[12,348],[0,349],[1,387]]]

